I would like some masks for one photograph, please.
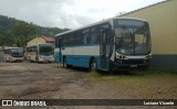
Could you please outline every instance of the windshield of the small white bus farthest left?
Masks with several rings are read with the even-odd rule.
[[[13,57],[22,57],[23,56],[23,50],[22,48],[12,48],[11,51],[11,55]]]

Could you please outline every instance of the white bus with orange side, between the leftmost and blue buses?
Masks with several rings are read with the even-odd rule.
[[[53,44],[37,44],[27,46],[25,58],[31,62],[54,62]]]

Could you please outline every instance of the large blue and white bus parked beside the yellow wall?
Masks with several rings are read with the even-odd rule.
[[[147,67],[152,57],[148,22],[112,18],[55,35],[55,61],[92,70]]]

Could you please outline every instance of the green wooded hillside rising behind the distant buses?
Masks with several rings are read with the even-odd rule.
[[[38,35],[54,36],[69,29],[43,28],[14,18],[0,15],[0,46],[25,46],[27,42]]]

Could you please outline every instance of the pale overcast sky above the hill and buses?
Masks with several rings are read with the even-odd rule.
[[[164,0],[0,0],[0,14],[41,26],[76,29]]]

